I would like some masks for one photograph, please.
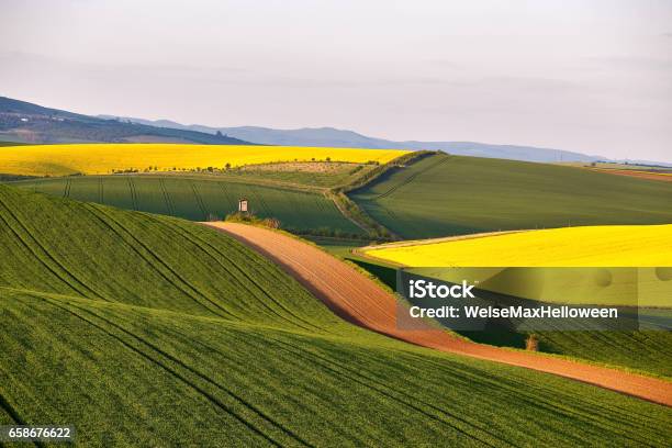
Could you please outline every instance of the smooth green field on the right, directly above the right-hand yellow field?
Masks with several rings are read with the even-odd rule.
[[[426,157],[349,195],[404,238],[672,223],[672,182],[477,157]]]

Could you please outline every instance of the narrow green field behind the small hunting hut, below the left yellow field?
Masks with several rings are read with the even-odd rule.
[[[226,181],[214,176],[83,176],[12,184],[34,192],[191,221],[222,220],[237,210],[240,198],[246,198],[257,216],[276,217],[283,228],[362,232],[320,192]]]

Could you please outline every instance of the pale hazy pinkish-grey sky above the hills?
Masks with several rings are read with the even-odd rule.
[[[672,161],[672,1],[0,0],[0,94]]]

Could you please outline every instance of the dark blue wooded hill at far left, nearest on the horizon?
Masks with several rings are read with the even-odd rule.
[[[43,108],[0,97],[0,141],[18,143],[200,143],[243,145],[216,133],[157,127]]]

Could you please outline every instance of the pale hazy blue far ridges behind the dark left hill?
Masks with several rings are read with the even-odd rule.
[[[111,115],[100,115],[111,119]],[[594,161],[606,159],[604,156],[592,156],[570,150],[537,148],[533,146],[491,145],[475,142],[394,142],[384,138],[368,137],[352,131],[336,130],[333,127],[304,127],[300,130],[273,130],[269,127],[239,126],[239,127],[211,127],[200,124],[184,125],[169,120],[142,120],[123,117],[150,126],[178,128],[183,131],[198,131],[214,134],[216,132],[255,142],[261,145],[287,146],[328,146],[352,148],[399,148],[399,149],[429,149],[444,150],[460,156],[475,156],[489,158],[505,158],[525,161]]]

